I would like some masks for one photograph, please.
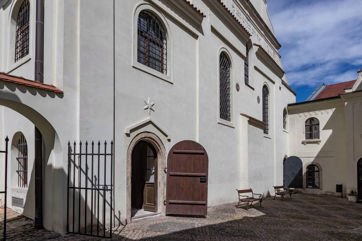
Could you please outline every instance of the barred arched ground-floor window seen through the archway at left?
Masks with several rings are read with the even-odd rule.
[[[18,186],[21,188],[28,187],[28,145],[26,144],[26,139],[24,135],[21,135],[18,145],[18,157],[16,158],[18,162]]]

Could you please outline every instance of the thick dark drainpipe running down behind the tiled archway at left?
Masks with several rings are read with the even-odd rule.
[[[43,83],[44,70],[44,0],[36,2],[35,23],[35,68],[34,80]],[[43,228],[43,137],[39,129],[34,128],[35,149],[35,215],[34,228]]]

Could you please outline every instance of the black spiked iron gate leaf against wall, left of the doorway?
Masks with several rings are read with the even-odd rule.
[[[110,153],[107,153],[107,142],[102,152],[100,141],[96,148],[94,150],[92,141],[89,150],[85,142],[82,153],[80,142],[76,153],[76,142],[73,150],[68,142],[67,232],[111,238],[113,141]]]

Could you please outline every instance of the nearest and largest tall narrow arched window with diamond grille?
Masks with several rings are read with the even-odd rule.
[[[231,121],[230,112],[230,61],[225,53],[220,53],[220,119]]]

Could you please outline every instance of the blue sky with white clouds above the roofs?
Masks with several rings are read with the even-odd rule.
[[[362,68],[362,0],[267,0],[282,65],[296,101]]]

